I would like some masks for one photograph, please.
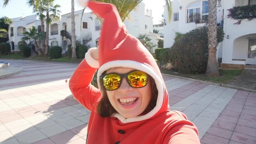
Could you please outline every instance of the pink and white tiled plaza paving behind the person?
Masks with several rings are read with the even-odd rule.
[[[0,79],[0,144],[85,144],[90,112],[65,82],[78,64],[9,62],[23,72]],[[168,75],[164,80],[170,109],[196,124],[201,144],[256,143],[256,93]]]

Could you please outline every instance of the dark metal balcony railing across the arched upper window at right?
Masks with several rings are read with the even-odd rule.
[[[187,23],[207,23],[208,22],[208,13],[205,12],[196,12],[187,16]]]

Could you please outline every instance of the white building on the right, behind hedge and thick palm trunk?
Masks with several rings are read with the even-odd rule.
[[[256,0],[218,0],[217,23],[224,21],[224,40],[218,45],[217,58],[222,58],[222,68],[244,68],[256,64],[256,19],[238,20],[227,18],[228,9],[236,6],[256,4]],[[174,43],[176,32],[186,33],[195,28],[207,26],[208,0],[173,0],[172,21],[169,23],[164,8],[164,48]]]

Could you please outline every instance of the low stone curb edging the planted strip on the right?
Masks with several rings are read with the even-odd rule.
[[[207,81],[203,81],[203,80],[196,80],[196,79],[193,79],[193,78],[186,78],[186,77],[182,77],[182,76],[175,76],[175,75],[171,75],[171,74],[163,74],[163,76],[172,76],[174,78],[182,78],[182,79],[185,79],[185,80],[193,80],[193,81],[196,81],[196,82],[202,82],[202,83],[205,83],[205,84],[212,84],[212,85],[216,85],[216,86],[223,86],[223,87],[226,87],[226,88],[234,88],[234,89],[238,89],[238,90],[244,90],[244,91],[247,91],[247,92],[255,92],[256,93],[256,90],[252,90],[252,89],[249,89],[249,88],[241,88],[239,86],[232,86],[232,85],[229,85],[229,84],[218,84],[218,83],[215,83],[215,82],[207,82]]]

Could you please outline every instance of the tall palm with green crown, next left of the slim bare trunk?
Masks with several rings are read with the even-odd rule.
[[[44,56],[48,56],[48,48],[49,48],[49,25],[53,20],[60,19],[60,5],[54,5],[54,0],[42,0],[42,11],[46,12],[46,38],[45,38],[45,50]]]

